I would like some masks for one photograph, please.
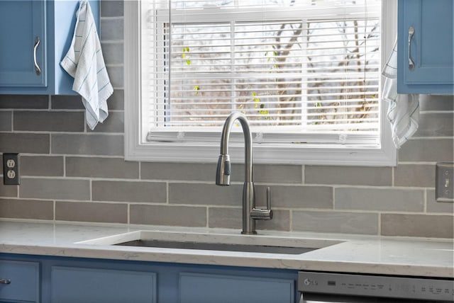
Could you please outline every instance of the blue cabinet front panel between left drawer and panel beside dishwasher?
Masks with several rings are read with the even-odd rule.
[[[52,266],[52,303],[155,303],[156,274]]]

